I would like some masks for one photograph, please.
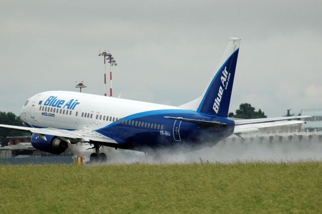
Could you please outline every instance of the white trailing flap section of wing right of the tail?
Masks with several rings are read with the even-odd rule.
[[[271,118],[271,119],[274,119],[274,118]],[[289,118],[287,117],[287,119],[289,119]],[[241,123],[241,124],[237,123],[236,124],[235,123],[235,129],[234,129],[233,133],[241,133],[241,132],[248,132],[248,131],[258,131],[260,128],[305,123],[305,121],[302,121],[302,120],[286,120],[285,121],[285,117],[284,117],[284,121],[276,120],[276,121],[273,121],[273,122],[259,122],[259,123],[254,123],[254,122],[246,123],[246,120],[244,120],[244,121],[245,121],[245,124],[243,124],[243,123]]]

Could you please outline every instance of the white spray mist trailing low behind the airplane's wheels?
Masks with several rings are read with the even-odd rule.
[[[308,132],[310,134],[310,132]],[[131,163],[234,163],[234,162],[299,162],[299,161],[322,161],[322,141],[318,135],[313,135],[311,139],[308,136],[300,138],[293,135],[289,140],[283,137],[279,141],[275,137],[272,141],[268,137],[260,140],[255,137],[253,140],[232,136],[224,141],[219,141],[216,146],[204,148],[194,152],[173,153],[171,150],[159,150],[152,155],[145,156],[142,152],[129,150],[108,150],[109,158],[107,164],[131,164]],[[71,145],[72,152],[80,155],[89,156],[85,147]]]

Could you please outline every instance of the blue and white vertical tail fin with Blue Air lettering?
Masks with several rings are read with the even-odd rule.
[[[235,76],[240,39],[230,38],[215,73],[199,98],[197,111],[219,117],[227,117]]]

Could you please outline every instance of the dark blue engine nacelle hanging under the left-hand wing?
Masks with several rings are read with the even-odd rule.
[[[47,140],[42,139],[37,134],[33,133],[31,135],[31,145],[41,151],[59,155],[63,153],[67,147],[68,143],[59,139],[54,135],[45,135]]]

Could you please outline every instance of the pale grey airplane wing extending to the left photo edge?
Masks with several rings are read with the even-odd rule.
[[[38,134],[38,136],[44,140],[46,140],[45,134],[48,134],[48,135],[57,136],[69,143],[70,141],[73,141],[73,142],[100,141],[100,142],[117,144],[117,142],[114,139],[109,138],[91,129],[65,130],[65,129],[59,129],[59,128],[33,128],[33,127],[4,125],[4,124],[0,124],[0,128],[30,131],[32,133]]]

